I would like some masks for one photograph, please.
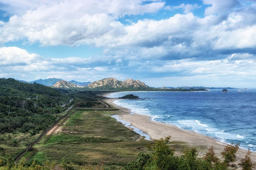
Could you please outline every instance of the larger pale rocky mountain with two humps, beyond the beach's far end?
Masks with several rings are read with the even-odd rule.
[[[88,87],[90,89],[100,90],[145,90],[150,88],[140,80],[127,79],[125,81],[119,81],[116,78],[104,78],[94,81]]]

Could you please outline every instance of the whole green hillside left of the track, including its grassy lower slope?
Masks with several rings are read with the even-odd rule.
[[[1,78],[0,155],[19,153],[61,117],[70,99],[51,87]]]

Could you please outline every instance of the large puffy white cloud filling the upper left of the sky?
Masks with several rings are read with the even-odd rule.
[[[10,5],[10,12],[17,11],[2,24],[0,42],[28,39],[42,45],[97,44],[106,33],[118,34],[118,17],[152,13],[164,6],[161,1],[143,0],[0,2]]]

